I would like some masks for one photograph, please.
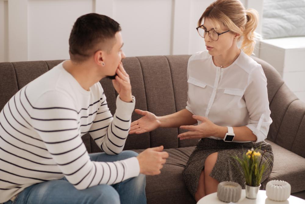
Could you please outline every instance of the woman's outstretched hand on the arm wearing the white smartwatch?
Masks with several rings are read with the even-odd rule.
[[[202,121],[202,123],[197,126],[180,126],[181,129],[189,130],[186,133],[181,133],[178,135],[180,140],[201,139],[203,137],[214,136],[215,133],[217,133],[219,126],[215,125],[208,118],[199,115],[193,115],[193,118]]]

